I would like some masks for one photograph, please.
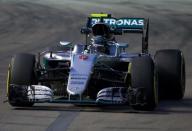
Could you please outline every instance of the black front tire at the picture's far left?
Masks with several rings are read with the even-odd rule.
[[[34,67],[35,56],[32,54],[17,54],[12,58],[7,78],[10,105],[26,107],[34,104],[27,98],[27,86],[35,84]]]

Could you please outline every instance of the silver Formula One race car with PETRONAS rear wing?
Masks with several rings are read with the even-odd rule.
[[[7,96],[12,106],[34,103],[125,104],[154,110],[159,99],[182,99],[185,61],[176,49],[148,53],[149,20],[91,14],[85,44],[60,42],[41,52],[16,54],[9,65]],[[115,35],[141,33],[141,53]]]

